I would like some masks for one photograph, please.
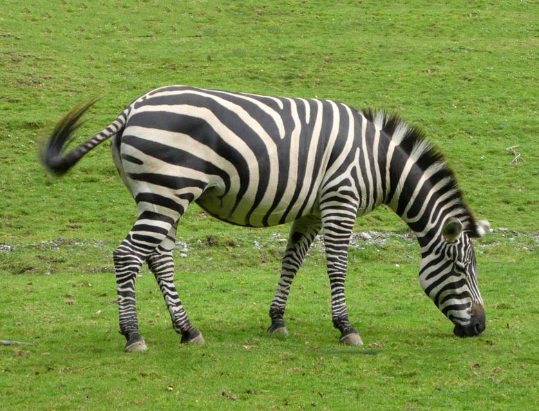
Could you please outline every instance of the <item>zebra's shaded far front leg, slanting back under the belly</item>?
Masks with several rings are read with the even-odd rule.
[[[305,254],[309,250],[312,240],[321,229],[319,216],[305,216],[292,223],[290,235],[283,256],[281,278],[279,279],[275,296],[269,306],[269,317],[272,318],[272,325],[267,332],[287,335],[284,315],[286,300],[290,294],[290,286],[296,276]]]

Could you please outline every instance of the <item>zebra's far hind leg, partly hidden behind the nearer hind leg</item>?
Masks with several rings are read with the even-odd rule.
[[[174,260],[172,251],[176,245],[176,228],[173,225],[167,237],[149,255],[147,262],[157,280],[159,288],[167,304],[172,320],[172,326],[178,334],[182,334],[182,343],[204,344],[202,333],[193,327],[176,291],[174,285]]]

